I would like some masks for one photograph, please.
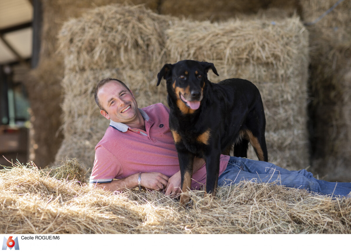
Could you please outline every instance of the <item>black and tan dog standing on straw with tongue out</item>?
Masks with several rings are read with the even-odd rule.
[[[206,161],[206,193],[216,195],[220,154],[234,145],[234,155],[247,157],[249,141],[259,160],[267,161],[266,119],[261,95],[248,80],[207,79],[212,63],[182,60],[166,64],[157,86],[166,80],[170,128],[178,151],[181,190],[190,190],[194,157]],[[182,194],[181,205],[190,197]]]

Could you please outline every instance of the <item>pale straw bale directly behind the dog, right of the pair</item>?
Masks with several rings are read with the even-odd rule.
[[[209,73],[211,81],[243,78],[256,84],[265,107],[269,160],[294,170],[309,165],[308,33],[298,17],[274,23],[266,19],[213,24],[182,20],[166,35],[169,62],[213,62],[219,77]]]

